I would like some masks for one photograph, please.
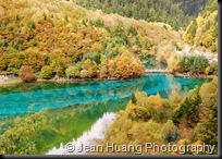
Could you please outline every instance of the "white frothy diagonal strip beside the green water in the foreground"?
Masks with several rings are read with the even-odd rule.
[[[98,119],[97,122],[91,126],[91,130],[85,132],[81,137],[73,139],[72,142],[63,145],[61,143],[59,148],[53,147],[46,155],[86,155],[86,151],[79,151],[82,145],[97,145],[97,142],[104,138],[104,135],[113,123],[115,113],[107,112],[102,118]]]

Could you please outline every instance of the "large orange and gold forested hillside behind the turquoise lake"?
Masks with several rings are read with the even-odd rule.
[[[168,24],[87,11],[71,1],[4,0],[0,11],[0,70],[24,82],[139,76],[143,57],[166,61],[181,38]]]

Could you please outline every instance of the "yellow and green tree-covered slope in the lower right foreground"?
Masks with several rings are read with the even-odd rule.
[[[124,111],[120,111],[102,144],[141,145],[141,150],[113,150],[115,155],[209,155],[218,154],[218,78],[196,86],[186,97],[172,91],[169,99],[159,94],[132,95]],[[146,149],[146,143],[161,145],[214,145],[197,152],[193,148],[173,150]],[[116,147],[118,147],[116,146]],[[165,148],[166,149],[166,148]]]

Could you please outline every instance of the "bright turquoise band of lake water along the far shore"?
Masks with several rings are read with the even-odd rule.
[[[22,84],[0,88],[0,115],[118,100],[131,97],[136,91],[146,91],[148,95],[160,93],[166,98],[172,89],[186,94],[203,82],[206,80],[153,74],[130,81]]]

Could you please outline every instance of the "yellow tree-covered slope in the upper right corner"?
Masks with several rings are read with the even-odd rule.
[[[184,33],[184,40],[218,51],[218,1],[208,0],[205,10],[195,19]]]

